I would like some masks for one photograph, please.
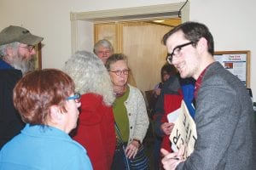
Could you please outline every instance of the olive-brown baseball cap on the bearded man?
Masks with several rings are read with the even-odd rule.
[[[34,36],[30,31],[20,26],[9,26],[0,32],[0,45],[11,42],[21,42],[27,45],[36,45],[42,42],[44,38]]]

